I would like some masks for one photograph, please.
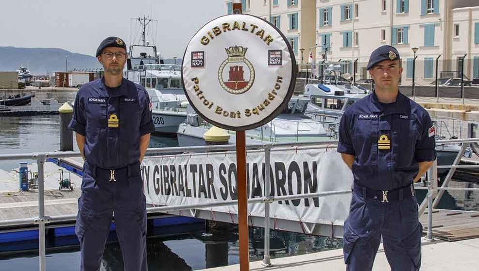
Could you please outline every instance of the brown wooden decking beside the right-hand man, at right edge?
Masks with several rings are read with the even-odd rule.
[[[420,219],[424,233],[428,232],[428,211]],[[446,241],[479,237],[479,214],[467,211],[432,211],[432,236]]]

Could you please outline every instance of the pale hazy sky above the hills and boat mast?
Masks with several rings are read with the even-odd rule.
[[[158,20],[152,30],[164,58],[182,57],[193,34],[226,13],[224,0],[0,0],[0,9],[0,46],[88,55],[111,35],[129,45],[130,26],[133,32],[137,25],[130,18],[150,16]]]

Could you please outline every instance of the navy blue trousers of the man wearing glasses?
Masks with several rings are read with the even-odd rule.
[[[138,166],[139,167],[139,166]],[[80,240],[81,270],[98,271],[113,212],[125,271],[146,271],[146,202],[138,170],[115,174],[85,162],[82,195],[78,199],[75,233]]]

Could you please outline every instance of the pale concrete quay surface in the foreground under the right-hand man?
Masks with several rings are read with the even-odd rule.
[[[479,239],[456,242],[436,240],[422,243],[421,271],[470,271],[478,270]],[[272,267],[262,261],[250,263],[251,271],[344,271],[346,269],[342,249],[272,259]],[[239,265],[205,269],[203,271],[238,271]],[[376,255],[374,271],[390,271],[382,248]]]

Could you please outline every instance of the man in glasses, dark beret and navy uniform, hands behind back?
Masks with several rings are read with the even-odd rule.
[[[126,45],[108,37],[96,52],[104,77],[78,90],[73,118],[85,160],[75,233],[81,270],[100,270],[112,215],[126,271],[145,271],[146,203],[140,164],[154,124],[145,88],[123,78]]]

